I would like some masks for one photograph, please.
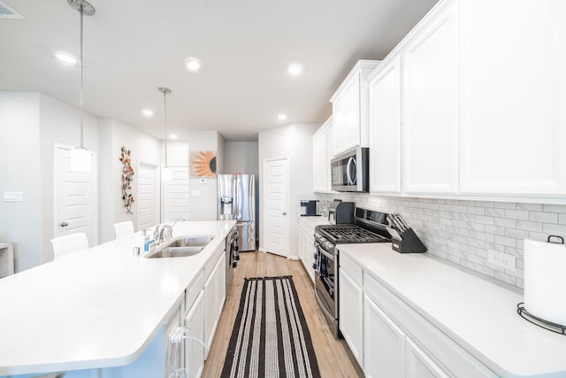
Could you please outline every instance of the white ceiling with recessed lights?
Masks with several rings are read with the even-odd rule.
[[[33,91],[78,107],[80,15],[66,0],[0,0],[0,90]],[[358,59],[381,59],[437,0],[90,0],[84,18],[84,109],[164,137],[218,130],[256,141],[264,129],[323,122]],[[188,56],[203,60],[190,73]],[[287,66],[301,63],[297,77]],[[153,117],[142,115],[153,109]],[[287,120],[278,120],[278,114]]]

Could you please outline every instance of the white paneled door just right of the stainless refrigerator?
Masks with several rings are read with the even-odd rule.
[[[287,158],[264,161],[265,251],[288,257]]]

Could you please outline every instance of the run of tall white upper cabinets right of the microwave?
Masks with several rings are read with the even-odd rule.
[[[566,203],[565,18],[440,0],[370,75],[371,191]]]

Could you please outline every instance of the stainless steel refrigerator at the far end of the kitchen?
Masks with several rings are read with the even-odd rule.
[[[236,220],[238,250],[256,251],[256,176],[218,174],[218,220]]]

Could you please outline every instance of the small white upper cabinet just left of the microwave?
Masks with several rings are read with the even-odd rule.
[[[330,155],[329,140],[332,140],[333,118],[330,117],[312,135],[312,187],[314,191],[330,190]]]

